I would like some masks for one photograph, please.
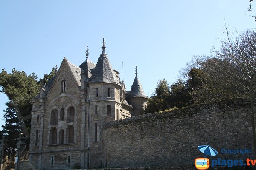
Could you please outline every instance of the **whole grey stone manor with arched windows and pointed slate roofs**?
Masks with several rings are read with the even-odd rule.
[[[94,64],[78,67],[66,58],[40,94],[32,99],[30,167],[34,169],[100,168],[105,122],[143,113],[148,97],[135,79],[126,91],[105,53]]]

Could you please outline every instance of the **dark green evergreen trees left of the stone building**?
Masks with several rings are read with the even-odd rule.
[[[45,74],[43,79],[37,80],[37,76],[27,75],[25,71],[12,69],[7,73],[4,69],[0,73],[0,92],[6,94],[8,102],[4,110],[5,125],[0,131],[0,136],[6,135],[9,140],[9,149],[16,148],[17,137],[20,133],[29,136],[31,123],[31,99],[38,95],[41,82],[47,83],[55,74],[56,68],[53,68],[50,74]],[[26,134],[27,133],[27,134]],[[29,139],[27,139],[29,146]]]

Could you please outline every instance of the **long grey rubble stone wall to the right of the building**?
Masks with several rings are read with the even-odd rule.
[[[252,158],[221,154],[221,148],[253,149],[250,110],[242,103],[224,101],[108,122],[103,167],[194,167],[195,158],[204,157],[198,145],[212,146],[223,159]]]

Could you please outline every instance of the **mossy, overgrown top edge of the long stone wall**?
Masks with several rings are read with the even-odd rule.
[[[106,122],[103,125],[103,130],[106,130],[111,127],[123,127],[127,125],[134,125],[140,123],[148,122],[163,122],[171,119],[180,119],[184,117],[196,116],[203,112],[204,110],[212,110],[209,114],[223,112],[229,110],[236,110],[241,108],[250,107],[250,103],[246,99],[235,98],[235,99],[226,99],[214,103],[198,104],[187,106],[183,108],[175,108],[166,111],[160,111],[156,113],[148,113],[140,116],[133,116],[131,118],[126,118],[122,120],[114,120]]]

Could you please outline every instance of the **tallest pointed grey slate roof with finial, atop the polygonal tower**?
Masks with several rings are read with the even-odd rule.
[[[114,70],[108,60],[108,56],[105,53],[106,47],[104,39],[102,45],[102,54],[100,54],[98,62],[92,71],[90,83],[105,82],[120,85],[119,80],[117,79],[116,74],[114,73]]]

